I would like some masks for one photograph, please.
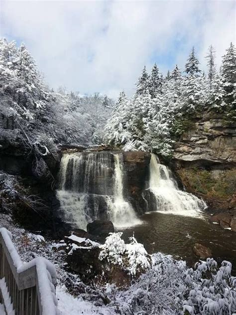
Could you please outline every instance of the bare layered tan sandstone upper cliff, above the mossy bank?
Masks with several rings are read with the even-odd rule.
[[[175,145],[174,159],[181,166],[236,166],[236,122],[216,113],[198,115]]]

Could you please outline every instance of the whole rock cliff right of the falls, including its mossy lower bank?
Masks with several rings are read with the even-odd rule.
[[[208,112],[189,121],[175,144],[175,170],[186,189],[213,212],[232,211],[236,195],[236,122]]]

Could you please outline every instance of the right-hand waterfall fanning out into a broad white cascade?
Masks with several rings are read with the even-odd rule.
[[[149,205],[152,211],[200,216],[201,211],[206,208],[203,200],[178,188],[171,171],[160,164],[154,154],[151,155],[148,190],[154,196],[149,197],[149,200],[152,199],[152,204]]]

